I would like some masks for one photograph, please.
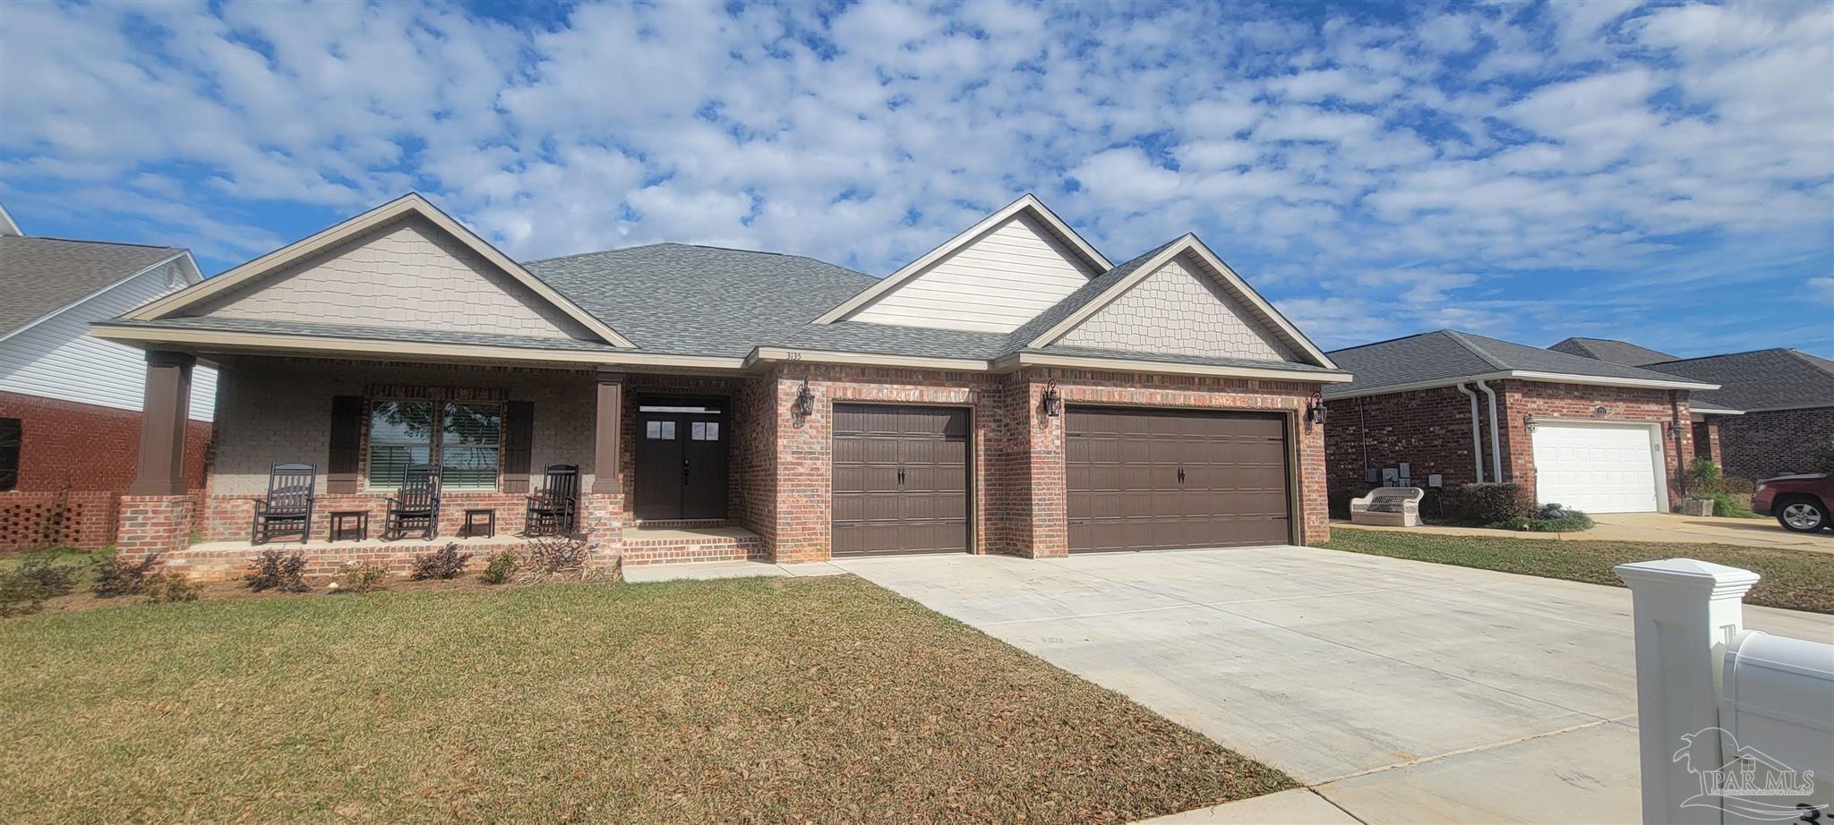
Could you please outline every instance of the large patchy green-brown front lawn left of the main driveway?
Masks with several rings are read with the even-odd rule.
[[[0,821],[1126,821],[1295,786],[855,578],[0,622]]]

